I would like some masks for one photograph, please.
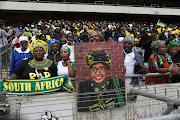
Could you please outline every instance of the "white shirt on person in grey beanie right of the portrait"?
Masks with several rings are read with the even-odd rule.
[[[136,60],[134,59],[135,54],[132,51],[131,53],[125,53],[124,66],[126,67],[126,75],[134,74],[134,67]],[[130,87],[130,83],[132,82],[132,78],[125,78],[125,86]]]

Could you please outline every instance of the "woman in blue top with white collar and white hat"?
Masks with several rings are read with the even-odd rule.
[[[34,57],[28,47],[29,40],[27,36],[21,36],[18,42],[21,47],[16,48],[12,53],[9,75],[14,73],[23,60]]]

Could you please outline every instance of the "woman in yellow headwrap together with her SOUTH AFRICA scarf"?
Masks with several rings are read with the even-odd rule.
[[[62,88],[75,91],[67,76],[57,76],[53,61],[43,58],[48,49],[46,42],[35,40],[29,47],[34,58],[23,61],[8,79],[0,80],[0,91],[10,94],[59,92]]]

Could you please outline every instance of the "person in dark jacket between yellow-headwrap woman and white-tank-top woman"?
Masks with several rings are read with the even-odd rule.
[[[51,46],[51,51],[48,53],[47,59],[50,59],[56,64],[58,61],[61,61],[61,56],[60,56],[60,48],[59,44],[54,42]]]

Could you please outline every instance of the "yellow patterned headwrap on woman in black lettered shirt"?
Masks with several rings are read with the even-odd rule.
[[[48,49],[48,44],[42,40],[35,40],[29,45],[29,49],[31,53],[34,53],[34,48],[36,47],[42,47],[44,49],[44,52],[46,53]]]

